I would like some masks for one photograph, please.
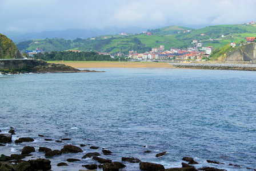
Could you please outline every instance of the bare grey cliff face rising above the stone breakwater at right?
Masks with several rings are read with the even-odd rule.
[[[226,54],[226,62],[256,62],[256,44],[249,43],[245,44],[242,47],[239,47],[237,50],[231,51]]]

